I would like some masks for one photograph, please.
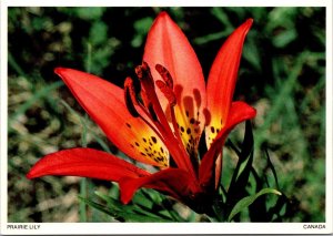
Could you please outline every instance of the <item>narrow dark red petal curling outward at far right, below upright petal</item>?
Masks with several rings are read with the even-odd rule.
[[[222,146],[226,140],[228,134],[239,123],[253,119],[256,111],[244,102],[233,102],[230,107],[226,123],[219,132],[216,138],[212,143],[210,150],[202,158],[199,168],[200,184],[211,186],[214,181],[215,161],[221,154]],[[218,173],[219,174],[219,173]]]

